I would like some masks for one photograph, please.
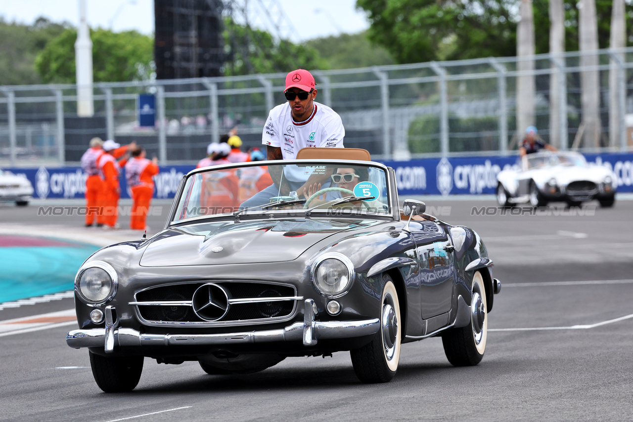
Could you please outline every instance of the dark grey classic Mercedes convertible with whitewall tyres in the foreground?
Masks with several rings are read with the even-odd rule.
[[[400,209],[395,180],[358,149],[193,170],[164,230],[82,264],[66,342],[105,392],[135,388],[145,357],[217,375],[349,351],[376,383],[401,344],[441,336],[450,363],[476,365],[501,289],[484,242],[423,202]]]

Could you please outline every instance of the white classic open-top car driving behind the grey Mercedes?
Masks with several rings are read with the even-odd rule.
[[[597,199],[600,206],[612,207],[615,202],[615,174],[603,166],[588,164],[578,152],[527,154],[520,166],[520,170],[503,170],[497,175],[499,206],[528,202],[537,207],[554,201],[579,206]]]

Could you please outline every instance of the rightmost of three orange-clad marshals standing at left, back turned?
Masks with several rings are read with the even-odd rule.
[[[148,230],[146,225],[147,211],[154,195],[154,180],[158,174],[158,158],[151,161],[145,158],[146,152],[142,147],[132,150],[132,158],[125,164],[125,178],[132,191],[132,216],[130,228],[132,230]]]

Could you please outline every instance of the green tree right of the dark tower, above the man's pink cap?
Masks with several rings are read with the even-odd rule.
[[[309,46],[275,40],[266,31],[239,25],[230,18],[224,24],[225,49],[229,51],[225,76],[327,68],[326,62]]]

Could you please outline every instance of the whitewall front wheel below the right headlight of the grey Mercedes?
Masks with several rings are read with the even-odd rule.
[[[396,375],[400,360],[400,302],[391,277],[382,276],[382,305],[380,306],[380,331],[372,341],[349,351],[358,379],[364,383],[389,382]]]

